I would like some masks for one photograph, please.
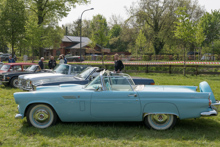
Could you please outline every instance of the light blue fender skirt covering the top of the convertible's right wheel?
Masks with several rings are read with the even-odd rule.
[[[148,103],[143,108],[144,117],[149,114],[158,114],[158,113],[173,114],[176,115],[177,117],[180,117],[178,108],[176,107],[176,105],[172,103]]]

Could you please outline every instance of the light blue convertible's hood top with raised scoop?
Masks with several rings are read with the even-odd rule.
[[[61,84],[59,86],[39,86],[36,88],[36,92],[45,91],[45,92],[64,92],[64,91],[85,91],[83,88],[84,85],[78,85],[78,84]]]

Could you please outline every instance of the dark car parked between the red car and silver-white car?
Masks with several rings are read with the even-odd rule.
[[[30,64],[31,65],[31,64]],[[5,72],[0,74],[0,85],[10,84],[11,87],[18,88],[18,76],[25,75],[25,74],[36,74],[36,73],[45,73],[45,72],[52,72],[52,70],[42,70],[38,64],[32,64],[23,71],[12,71],[12,72]]]

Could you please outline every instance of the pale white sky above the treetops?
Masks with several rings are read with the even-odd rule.
[[[108,21],[112,15],[119,16],[123,19],[128,17],[125,7],[130,7],[133,2],[137,0],[91,0],[87,5],[76,5],[67,17],[63,18],[59,25],[62,26],[66,23],[72,23],[73,21],[80,18],[81,13],[90,8],[94,10],[86,11],[83,14],[83,19],[92,19],[93,16],[97,14],[103,15]],[[220,9],[220,0],[198,0],[201,6],[204,6],[206,11],[211,12],[211,10]]]

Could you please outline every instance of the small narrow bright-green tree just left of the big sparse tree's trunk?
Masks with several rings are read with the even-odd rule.
[[[146,47],[147,39],[144,36],[142,30],[140,30],[139,35],[136,39],[136,56],[138,56],[138,50],[142,51],[142,55],[144,55],[144,48]]]

